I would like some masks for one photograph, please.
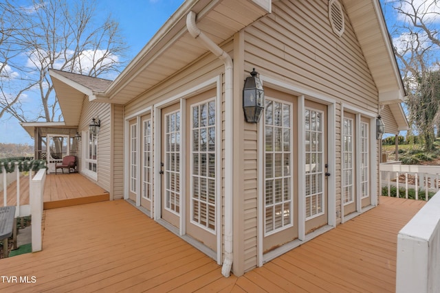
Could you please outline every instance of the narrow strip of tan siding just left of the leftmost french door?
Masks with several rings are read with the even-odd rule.
[[[111,197],[124,198],[124,108],[120,105],[112,106],[112,167],[113,175]]]

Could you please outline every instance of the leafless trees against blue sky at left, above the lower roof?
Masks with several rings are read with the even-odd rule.
[[[30,0],[24,7],[6,0],[0,8],[0,118],[60,121],[49,69],[108,78],[124,66],[118,23],[100,21],[93,1]],[[40,104],[39,113],[31,115],[25,99]]]

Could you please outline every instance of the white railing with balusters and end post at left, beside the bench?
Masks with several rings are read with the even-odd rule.
[[[8,163],[11,164],[11,163]],[[7,173],[4,163],[0,163],[1,174],[0,181],[1,187],[3,187],[3,207],[8,205],[8,187],[11,184],[15,184],[17,187],[17,205],[15,209],[15,218],[25,217],[30,215],[32,217],[32,251],[41,250],[42,237],[41,237],[41,222],[43,219],[43,193],[44,193],[44,183],[46,178],[46,169],[39,169],[38,172],[29,171],[29,178],[21,176],[19,171],[19,163],[14,162],[14,172]],[[9,167],[11,165],[8,165]],[[32,177],[32,174],[35,176]],[[11,175],[12,174],[12,175]],[[21,204],[21,191],[20,191],[20,180],[29,180],[29,204]]]

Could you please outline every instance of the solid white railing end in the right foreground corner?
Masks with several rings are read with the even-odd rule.
[[[397,235],[396,292],[440,292],[440,191]]]

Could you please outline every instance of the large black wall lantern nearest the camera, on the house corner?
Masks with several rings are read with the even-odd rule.
[[[246,78],[243,88],[243,110],[245,112],[246,121],[250,123],[258,123],[263,113],[264,89],[259,78],[256,77],[258,72],[253,69],[250,77]]]

